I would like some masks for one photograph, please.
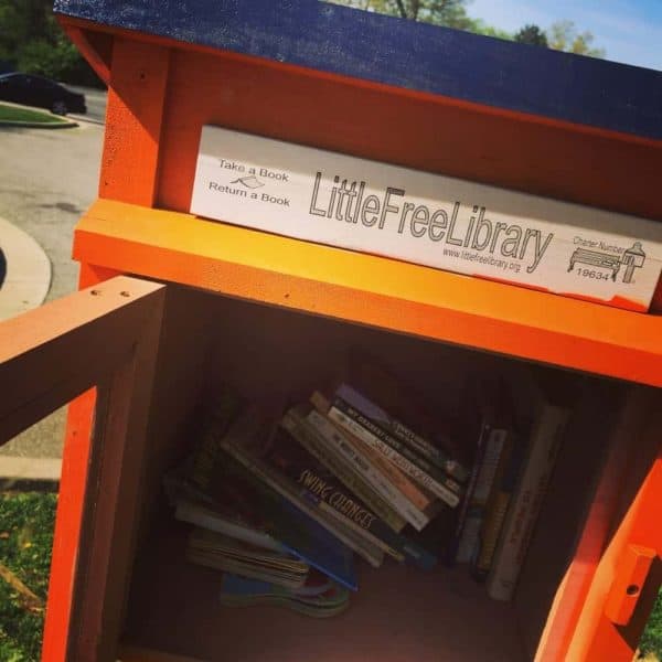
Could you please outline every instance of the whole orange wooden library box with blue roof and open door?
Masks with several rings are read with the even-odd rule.
[[[659,220],[662,74],[313,0],[55,10],[109,93],[81,291],[1,328],[2,439],[76,397],[43,659],[631,660],[660,586],[662,296],[636,313],[189,210],[215,125]],[[205,384],[305,394],[350,346],[433,401],[523,360],[577,391],[512,602],[391,564],[323,622],[222,609],[182,560],[160,480]]]

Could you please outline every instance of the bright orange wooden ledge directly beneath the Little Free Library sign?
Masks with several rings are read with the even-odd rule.
[[[286,308],[662,385],[662,318],[97,201],[74,257]]]

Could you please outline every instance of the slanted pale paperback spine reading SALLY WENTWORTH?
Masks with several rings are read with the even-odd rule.
[[[333,406],[329,409],[329,418],[337,421],[340,426],[367,444],[375,450],[378,450],[402,469],[407,476],[410,476],[419,484],[427,488],[433,494],[445,501],[451,508],[455,508],[460,502],[460,485],[451,478],[439,476],[437,471],[433,471],[435,476],[430,476],[420,468],[420,462],[415,462],[416,458],[408,448],[401,441],[393,439],[374,424],[371,424],[361,413],[353,407],[341,403],[338,398]],[[416,458],[418,460],[418,458]],[[420,460],[428,469],[429,462]],[[434,468],[433,468],[434,469]]]

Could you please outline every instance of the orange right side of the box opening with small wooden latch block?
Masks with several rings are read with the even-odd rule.
[[[637,387],[536,662],[632,662],[662,580],[662,394]]]

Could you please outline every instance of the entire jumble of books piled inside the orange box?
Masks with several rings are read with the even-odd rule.
[[[340,613],[359,588],[355,556],[465,565],[509,600],[569,416],[535,381],[519,384],[512,397],[500,380],[479,388],[462,417],[476,424],[469,462],[349,382],[273,417],[225,387],[166,481],[194,526],[188,559],[223,572],[226,606]]]

